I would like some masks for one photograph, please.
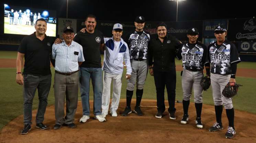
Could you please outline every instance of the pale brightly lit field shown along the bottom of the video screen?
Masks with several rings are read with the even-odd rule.
[[[10,19],[4,17],[4,33],[30,35],[35,32],[35,27],[30,25],[10,25]],[[56,36],[56,24],[47,23],[47,36]]]

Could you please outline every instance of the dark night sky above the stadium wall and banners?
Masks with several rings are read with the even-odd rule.
[[[57,17],[66,17],[67,0],[3,0],[4,3],[57,11]],[[122,2],[122,3],[121,3]],[[256,16],[252,1],[225,0],[179,1],[178,21],[248,18]],[[143,15],[146,21],[175,21],[176,1],[169,0],[69,0],[68,18],[84,19],[88,14],[97,20],[131,22]]]

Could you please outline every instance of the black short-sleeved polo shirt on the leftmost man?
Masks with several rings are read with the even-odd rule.
[[[48,75],[53,40],[45,35],[43,41],[36,38],[35,32],[21,41],[18,52],[25,54],[23,74]]]

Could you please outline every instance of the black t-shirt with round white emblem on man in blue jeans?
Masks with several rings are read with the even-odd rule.
[[[77,32],[74,41],[83,47],[85,61],[80,67],[101,68],[100,45],[104,43],[103,34],[99,30],[94,30],[94,33]]]

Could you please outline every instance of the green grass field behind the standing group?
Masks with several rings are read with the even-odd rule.
[[[16,52],[0,51],[0,58],[16,58]],[[177,61],[176,64],[180,65],[181,61]],[[243,68],[256,67],[255,62],[241,62],[238,65],[241,65],[241,67]],[[54,75],[54,68],[52,68],[51,70],[52,74]],[[12,119],[23,114],[22,86],[16,83],[15,72],[15,68],[0,68],[0,130]],[[123,73],[126,73],[126,69],[124,69]],[[52,87],[48,96],[48,105],[54,104],[53,78],[54,76],[52,76]],[[256,89],[253,86],[255,85],[256,78],[236,77],[236,81],[243,86],[240,87],[238,95],[235,96],[233,99],[234,108],[256,114]],[[126,84],[127,83],[125,77],[123,76],[121,98],[126,98]],[[78,95],[78,97],[78,99],[80,100],[80,94]],[[136,98],[136,96],[133,96],[133,98]],[[165,98],[167,99],[167,93],[165,93]],[[90,99],[93,99],[92,88],[90,88]],[[145,82],[143,99],[156,99],[154,78],[149,74]],[[176,100],[182,100],[180,72],[177,72]],[[191,102],[193,102],[193,97],[191,97]],[[214,104],[211,88],[208,91],[203,92],[203,103],[211,105]],[[37,109],[37,106],[38,96],[36,93],[33,102],[33,109]]]

